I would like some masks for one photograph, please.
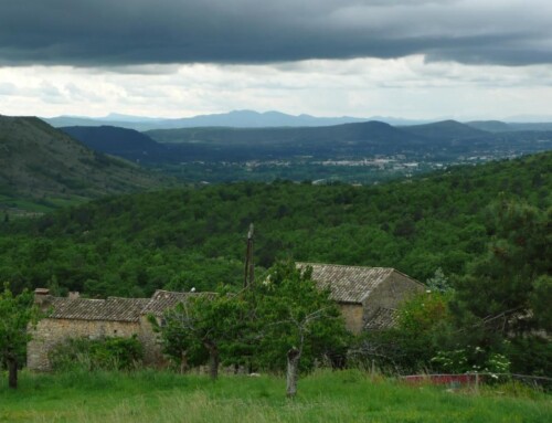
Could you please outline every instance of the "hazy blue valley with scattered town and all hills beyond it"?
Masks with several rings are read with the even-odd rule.
[[[194,183],[371,184],[552,148],[552,123],[380,121],[251,110],[170,120],[109,116],[44,120],[98,152]],[[278,124],[285,126],[270,126]]]

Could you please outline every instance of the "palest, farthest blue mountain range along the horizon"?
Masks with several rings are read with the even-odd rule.
[[[194,117],[166,119],[155,117],[129,116],[120,114],[109,114],[105,117],[91,118],[79,116],[59,116],[42,118],[54,127],[67,126],[116,126],[119,128],[136,129],[140,131],[151,129],[179,129],[198,127],[232,127],[232,128],[274,128],[274,127],[320,127],[336,126],[342,124],[363,123],[369,120],[383,121],[393,126],[412,126],[431,124],[434,120],[414,120],[384,116],[360,117],[315,117],[310,115],[288,115],[280,112],[258,113],[254,110],[234,110],[230,113],[200,115]],[[529,119],[529,117],[528,117]],[[552,120],[552,119],[551,119]],[[488,131],[511,131],[511,130],[552,130],[552,121],[505,123],[499,120],[477,120],[468,121],[467,125]]]

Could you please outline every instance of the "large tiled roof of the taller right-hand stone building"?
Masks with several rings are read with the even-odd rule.
[[[391,267],[344,266],[340,264],[297,263],[312,267],[312,279],[320,288],[330,288],[330,298],[338,303],[361,304],[393,272]]]

